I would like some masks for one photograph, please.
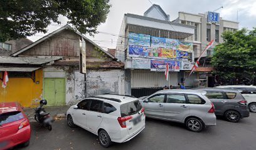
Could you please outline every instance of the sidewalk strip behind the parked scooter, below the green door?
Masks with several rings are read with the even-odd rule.
[[[70,106],[52,106],[52,107],[43,107],[45,108],[46,113],[50,113],[52,118],[54,119],[61,119],[65,118],[65,114],[67,113],[68,108]],[[35,108],[24,108],[24,112],[28,116],[29,122],[36,122],[35,121]]]

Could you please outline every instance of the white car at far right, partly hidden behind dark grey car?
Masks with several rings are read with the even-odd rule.
[[[231,88],[240,91],[248,104],[250,112],[256,113],[256,86],[230,85],[216,86],[216,88]]]

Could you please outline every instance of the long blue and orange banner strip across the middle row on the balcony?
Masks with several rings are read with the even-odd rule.
[[[162,58],[180,61],[191,61],[192,54],[186,51],[178,51],[166,48],[151,48],[129,45],[129,56],[137,58]]]

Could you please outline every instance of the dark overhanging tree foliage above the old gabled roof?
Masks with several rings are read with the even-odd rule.
[[[0,42],[46,33],[52,22],[60,24],[60,15],[82,34],[92,35],[109,9],[109,0],[1,0]]]

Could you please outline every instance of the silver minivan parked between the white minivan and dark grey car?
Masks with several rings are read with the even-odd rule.
[[[186,124],[194,132],[205,126],[215,126],[215,108],[205,91],[167,89],[140,98],[147,118]]]

